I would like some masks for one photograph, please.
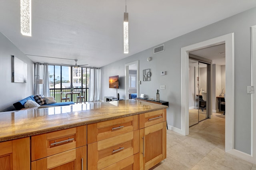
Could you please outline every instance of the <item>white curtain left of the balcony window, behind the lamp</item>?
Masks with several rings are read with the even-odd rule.
[[[48,64],[35,63],[35,74],[34,79],[43,79],[44,84],[34,83],[34,94],[44,95],[45,97],[50,96],[49,89],[49,76],[48,76]]]

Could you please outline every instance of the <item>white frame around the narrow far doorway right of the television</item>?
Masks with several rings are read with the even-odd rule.
[[[126,63],[124,66],[125,66],[125,69],[124,69],[124,75],[125,75],[125,99],[129,99],[129,65],[133,65],[133,64],[136,64],[137,65],[137,81],[136,81],[136,85],[137,85],[137,97],[139,95],[139,60],[137,61],[133,61],[133,62],[130,62],[130,63]]]

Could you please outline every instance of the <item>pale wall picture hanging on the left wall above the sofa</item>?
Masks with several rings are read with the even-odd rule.
[[[12,55],[12,82],[27,83],[28,66],[27,63]]]

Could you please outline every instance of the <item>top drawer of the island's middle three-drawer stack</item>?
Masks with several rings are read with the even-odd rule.
[[[93,143],[138,130],[138,115],[87,125],[87,143]]]

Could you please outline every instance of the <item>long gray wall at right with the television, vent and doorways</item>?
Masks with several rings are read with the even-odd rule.
[[[166,85],[165,90],[160,90],[160,99],[169,101],[167,123],[181,128],[181,48],[234,32],[234,148],[250,154],[251,99],[246,93],[246,87],[250,85],[250,26],[256,25],[254,16],[256,16],[256,8],[164,42],[164,52],[154,55],[153,48],[150,48],[102,67],[100,98],[115,93],[108,88],[108,76],[118,74],[124,77],[125,63],[139,60],[139,74],[142,81],[140,93],[154,97],[156,89],[160,89],[160,85]],[[147,57],[152,57],[152,61],[148,62]],[[142,70],[148,68],[152,71],[152,77],[151,81],[145,82],[142,79]],[[166,71],[167,74],[160,75],[160,71]],[[121,97],[124,96],[122,81],[121,89],[118,90]]]

